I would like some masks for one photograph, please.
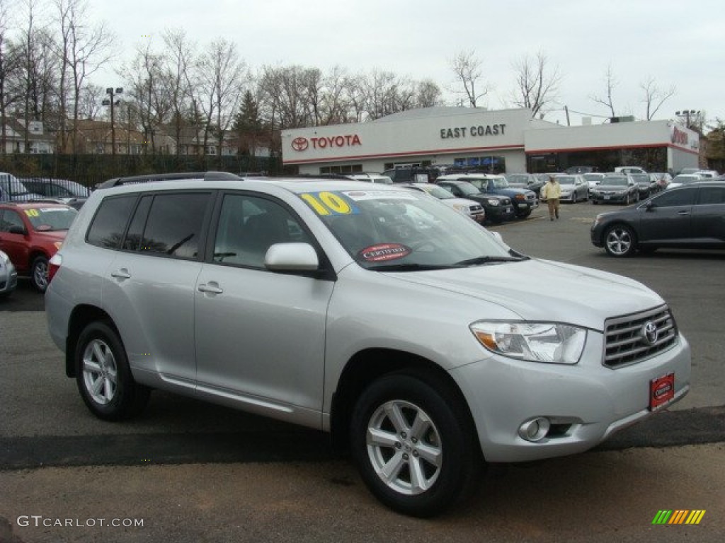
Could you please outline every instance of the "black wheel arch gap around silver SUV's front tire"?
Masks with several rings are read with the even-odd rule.
[[[468,424],[475,431],[473,415],[465,401],[463,391],[452,376],[428,358],[394,349],[366,349],[356,353],[347,362],[340,375],[331,405],[330,430],[336,450],[347,450],[349,425],[355,403],[366,387],[381,376],[396,373],[412,374],[431,387],[445,387],[460,400],[468,416]],[[476,438],[476,442],[478,439]],[[480,453],[480,447],[479,447]]]

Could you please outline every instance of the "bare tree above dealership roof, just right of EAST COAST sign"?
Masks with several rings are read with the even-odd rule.
[[[547,106],[557,97],[561,75],[558,67],[550,67],[547,56],[539,51],[536,56],[524,55],[513,63],[516,90],[513,103],[531,109],[532,117],[545,113]]]

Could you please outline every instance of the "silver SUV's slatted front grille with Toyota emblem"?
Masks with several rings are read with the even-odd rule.
[[[677,326],[666,306],[608,319],[604,331],[603,364],[613,369],[641,362],[677,342]]]

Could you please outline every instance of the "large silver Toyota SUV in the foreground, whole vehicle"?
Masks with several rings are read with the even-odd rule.
[[[655,292],[523,256],[426,194],[128,181],[91,194],[46,293],[100,418],[157,389],[321,429],[378,499],[428,516],[486,462],[587,450],[689,390],[689,345]]]

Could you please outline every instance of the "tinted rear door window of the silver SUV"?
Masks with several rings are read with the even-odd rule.
[[[210,193],[157,194],[141,238],[142,253],[197,258]]]

